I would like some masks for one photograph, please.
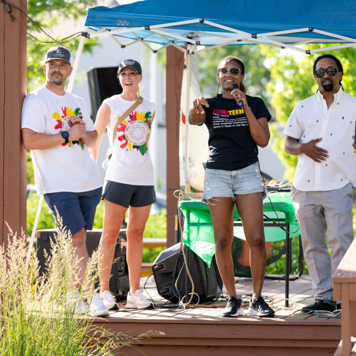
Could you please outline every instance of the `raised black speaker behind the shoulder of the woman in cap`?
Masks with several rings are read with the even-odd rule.
[[[87,73],[93,122],[103,100],[123,91],[117,79],[117,70],[118,67],[92,68]]]

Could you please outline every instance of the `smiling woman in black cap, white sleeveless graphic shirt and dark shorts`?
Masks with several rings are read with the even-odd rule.
[[[140,103],[142,69],[137,61],[122,61],[118,79],[123,92],[105,99],[101,104],[95,120],[98,141],[92,150],[97,160],[101,138],[107,129],[113,153],[107,165],[103,186],[104,221],[98,261],[100,295],[107,308],[118,309],[115,297],[109,290],[109,280],[115,244],[128,211],[126,258],[130,292],[126,308],[152,308],[153,303],[139,290],[139,280],[143,231],[151,204],[156,201],[153,166],[148,149],[155,105],[146,98]]]

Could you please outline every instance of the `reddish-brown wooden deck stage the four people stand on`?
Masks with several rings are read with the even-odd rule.
[[[150,277],[153,278],[153,277]],[[142,279],[143,281],[145,279]],[[153,279],[146,291],[157,303],[163,303]],[[250,278],[236,278],[236,291],[247,295],[252,291]],[[122,306],[110,316],[94,320],[112,331],[132,336],[148,330],[164,334],[140,342],[146,356],[323,356],[333,355],[341,339],[341,319],[321,318],[295,312],[310,304],[312,282],[303,275],[289,285],[290,309],[284,308],[284,281],[266,279],[263,295],[276,311],[273,318],[245,315],[220,317],[226,302],[218,300],[212,307],[173,310],[126,310]],[[128,355],[142,355],[126,349]]]

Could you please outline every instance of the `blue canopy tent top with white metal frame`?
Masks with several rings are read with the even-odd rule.
[[[256,43],[305,51],[295,45],[355,45],[355,16],[356,6],[349,0],[146,0],[91,8],[85,26],[91,37],[110,35],[134,42],[191,44],[191,52],[199,52],[197,45]]]

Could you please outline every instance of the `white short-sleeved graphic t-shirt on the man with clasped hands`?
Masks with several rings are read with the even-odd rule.
[[[71,116],[80,116],[87,131],[95,130],[84,99],[67,91],[57,95],[43,86],[25,97],[21,128],[41,134],[58,134],[70,130]],[[31,150],[31,156],[38,194],[85,192],[101,187],[96,162],[81,140]]]

